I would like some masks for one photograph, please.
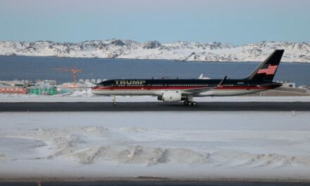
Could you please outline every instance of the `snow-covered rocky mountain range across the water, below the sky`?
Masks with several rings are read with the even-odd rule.
[[[1,56],[59,56],[76,58],[173,59],[179,61],[263,61],[275,49],[285,49],[282,61],[310,63],[310,42],[135,42],[109,39],[80,43],[0,42]]]

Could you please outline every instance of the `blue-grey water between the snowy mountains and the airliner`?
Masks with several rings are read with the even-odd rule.
[[[53,68],[82,68],[78,79],[206,77],[221,79],[244,78],[259,66],[260,62],[181,62],[170,60],[133,60],[110,58],[58,58],[32,56],[0,56],[0,80],[57,80],[72,82],[72,73]],[[275,80],[289,80],[297,85],[310,85],[310,64],[280,63]]]

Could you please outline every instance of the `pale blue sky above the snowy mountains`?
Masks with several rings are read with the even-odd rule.
[[[310,41],[308,0],[0,0],[0,40]]]

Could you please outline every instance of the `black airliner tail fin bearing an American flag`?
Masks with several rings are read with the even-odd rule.
[[[275,72],[278,69],[279,63],[283,56],[284,50],[275,50],[259,67],[257,67],[253,73],[247,77],[249,80],[259,81],[273,81]]]

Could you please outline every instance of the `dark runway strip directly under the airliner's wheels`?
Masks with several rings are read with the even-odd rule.
[[[40,111],[310,111],[310,102],[18,102],[0,103],[0,112]]]

